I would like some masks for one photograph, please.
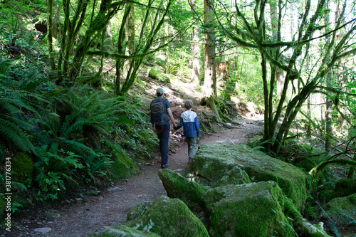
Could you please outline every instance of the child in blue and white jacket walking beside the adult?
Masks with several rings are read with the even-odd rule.
[[[179,128],[183,127],[183,136],[186,137],[188,143],[188,162],[190,162],[193,159],[195,152],[197,152],[199,121],[197,114],[192,111],[193,102],[191,100],[184,102],[184,107],[187,111],[182,113],[179,125],[174,127],[174,130],[179,130]]]

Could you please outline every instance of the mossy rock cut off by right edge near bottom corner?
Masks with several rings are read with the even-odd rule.
[[[356,226],[356,194],[338,197],[328,202],[321,217],[331,218],[336,226]]]

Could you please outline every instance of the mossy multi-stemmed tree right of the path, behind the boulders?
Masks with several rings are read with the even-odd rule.
[[[286,2],[285,4],[289,3]],[[234,15],[229,14],[229,12],[224,9],[223,4],[219,6],[220,8],[215,9],[214,12],[216,18],[219,20],[219,24],[224,29],[224,33],[239,44],[239,46],[257,48],[261,53],[263,95],[265,100],[263,139],[271,141],[269,144],[266,143],[267,148],[278,152],[283,139],[288,136],[293,120],[308,96],[318,88],[320,80],[328,73],[337,60],[355,53],[356,48],[355,45],[350,42],[350,38],[355,37],[352,32],[356,29],[356,20],[354,19],[341,26],[342,19],[345,17],[346,4],[344,4],[340,16],[335,19],[335,26],[327,33],[327,35],[330,34],[330,44],[328,47],[325,47],[321,60],[318,60],[315,65],[313,76],[308,78],[308,80],[304,80],[301,75],[301,70],[304,67],[305,58],[309,53],[308,43],[315,40],[315,38],[325,37],[325,35],[317,36],[317,33],[320,31],[320,21],[323,21],[323,10],[326,6],[325,0],[319,0],[315,6],[315,10],[311,8],[311,1],[307,0],[305,9],[303,9],[303,12],[300,12],[301,20],[298,23],[298,31],[295,37],[293,37],[295,40],[292,38],[291,41],[283,41],[281,38],[277,42],[271,41],[271,36],[267,30],[269,27],[266,27],[268,23],[265,16],[266,1],[257,0],[249,4],[238,4],[235,1],[234,9],[236,10],[236,14]],[[219,14],[217,14],[218,11]],[[221,14],[221,12],[226,12],[226,14]],[[253,17],[249,15],[250,12],[253,13]],[[282,30],[282,23],[284,22],[283,16],[283,9],[279,7],[279,32]],[[344,27],[347,27],[346,33],[344,33],[342,37],[336,38],[335,33]],[[283,47],[283,51],[281,51],[281,56],[276,57],[278,53],[273,49],[278,47]],[[328,60],[328,56],[330,56],[330,60]],[[272,110],[274,91],[271,86],[273,85],[273,81],[276,80],[276,75],[271,72],[271,79],[268,81],[267,62],[275,65],[286,73],[281,100],[278,102],[275,111]],[[293,88],[295,93],[288,102],[283,122],[276,134],[278,120],[283,111],[283,103],[286,102],[287,99],[288,85],[295,85],[293,84],[294,80],[300,81],[300,83],[297,84],[299,88]],[[270,88],[268,88],[268,85]]]

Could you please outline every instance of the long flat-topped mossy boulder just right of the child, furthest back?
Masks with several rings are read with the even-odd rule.
[[[211,160],[214,161],[213,165],[210,164]],[[253,182],[276,181],[298,211],[303,210],[307,196],[314,189],[311,182],[313,178],[302,170],[266,154],[253,152],[244,145],[202,144],[192,164],[192,172],[206,177],[214,186],[218,181],[227,184],[229,179],[235,179],[233,184],[239,183],[234,176],[226,177],[234,169],[239,170],[234,174],[241,174],[237,178],[241,184],[248,183],[249,179]]]

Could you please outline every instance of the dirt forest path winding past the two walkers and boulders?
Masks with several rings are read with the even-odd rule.
[[[240,128],[221,128],[219,132],[204,136],[199,143],[246,144],[247,134],[253,137],[263,130],[261,117],[259,119],[240,118]],[[185,169],[187,162],[187,144],[184,139],[180,139],[175,153],[169,155],[169,169]],[[58,207],[58,214],[52,218],[46,216],[43,211],[38,211],[38,214],[29,218],[22,218],[15,223],[14,231],[6,233],[6,236],[90,236],[102,226],[115,226],[125,222],[128,211],[135,205],[167,195],[157,175],[160,169],[158,156],[150,162],[138,164],[138,167],[139,175],[117,181],[98,196],[83,196],[81,199],[72,200],[72,203]],[[38,230],[35,231],[37,228],[48,232],[39,233]]]

